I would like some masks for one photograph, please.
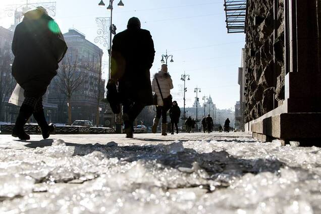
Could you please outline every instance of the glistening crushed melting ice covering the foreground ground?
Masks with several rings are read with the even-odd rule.
[[[1,213],[321,213],[321,149],[234,141],[0,149]]]

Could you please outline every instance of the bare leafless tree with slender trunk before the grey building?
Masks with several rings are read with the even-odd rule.
[[[86,76],[81,74],[81,65],[78,63],[78,57],[73,56],[72,51],[68,53],[59,65],[56,85],[59,90],[66,95],[68,105],[68,124],[71,125],[71,98],[73,93],[83,83]]]

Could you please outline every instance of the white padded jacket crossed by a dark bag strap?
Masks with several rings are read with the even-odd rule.
[[[171,89],[174,88],[173,81],[172,81],[171,75],[164,71],[159,71],[154,75],[154,79],[151,83],[151,89],[153,92],[157,94],[157,105],[163,106],[164,103],[162,100],[161,93],[159,92],[159,89],[157,86],[156,78],[158,80],[159,87],[161,88],[164,99],[171,94]]]

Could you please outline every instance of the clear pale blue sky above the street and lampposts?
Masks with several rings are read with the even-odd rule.
[[[50,2],[50,0],[29,0],[29,3]],[[75,28],[94,43],[97,36],[96,17],[110,17],[105,7],[98,7],[100,0],[56,0],[56,16],[63,33]],[[117,32],[126,29],[131,17],[138,17],[143,29],[150,31],[154,46],[155,60],[151,76],[161,68],[162,55],[166,50],[173,55],[169,73],[173,79],[173,99],[183,107],[183,81],[181,75],[190,75],[186,80],[186,107],[192,106],[200,88],[200,102],[203,96],[211,96],[218,109],[234,109],[239,100],[237,84],[238,67],[241,65],[241,49],[245,34],[228,34],[225,23],[223,0],[123,0],[125,7],[118,8],[114,1],[113,24]],[[8,16],[6,5],[26,4],[26,0],[0,0],[0,26],[9,27],[13,18]],[[103,45],[97,43],[108,54]],[[143,59],[142,59],[143,60]],[[105,66],[108,68],[108,65]],[[108,72],[105,70],[104,76]]]

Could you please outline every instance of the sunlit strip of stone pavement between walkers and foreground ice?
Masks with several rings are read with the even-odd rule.
[[[62,139],[67,144],[107,144],[116,142],[119,145],[145,145],[167,143],[175,140],[217,140],[217,141],[239,141],[240,138],[251,137],[251,135],[242,132],[212,132],[208,133],[179,133],[175,135],[161,136],[156,134],[134,134],[133,139],[125,138],[125,134],[67,134],[67,135],[51,135],[49,139],[43,140],[41,135],[31,135],[31,139],[21,141],[11,135],[0,135],[0,148],[5,149],[30,149],[36,147],[50,146],[56,139]],[[248,141],[248,139],[246,139]],[[241,139],[242,141],[242,139]],[[244,140],[245,141],[245,140]]]

